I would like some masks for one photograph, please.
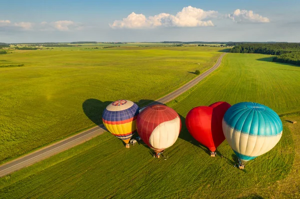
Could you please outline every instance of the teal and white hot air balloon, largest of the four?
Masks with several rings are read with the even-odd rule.
[[[271,150],[282,136],[282,122],[270,108],[253,102],[241,102],[225,113],[224,136],[241,163]]]

